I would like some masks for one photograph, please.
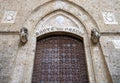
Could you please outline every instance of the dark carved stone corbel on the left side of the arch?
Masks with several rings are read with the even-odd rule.
[[[19,35],[20,35],[21,44],[27,43],[27,41],[28,41],[28,29],[25,27],[21,28]]]

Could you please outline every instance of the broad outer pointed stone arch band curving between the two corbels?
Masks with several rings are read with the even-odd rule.
[[[60,5],[61,4],[61,5]],[[51,8],[50,8],[51,7]],[[82,7],[70,2],[70,1],[49,1],[43,5],[40,5],[36,7],[30,17],[25,21],[24,25],[25,27],[28,27],[30,31],[34,30],[37,23],[44,18],[46,15],[54,12],[54,11],[65,11],[79,19],[85,26],[88,35],[90,35],[90,31],[93,28],[98,28],[97,23],[92,18],[92,16]],[[76,10],[76,11],[74,11]]]

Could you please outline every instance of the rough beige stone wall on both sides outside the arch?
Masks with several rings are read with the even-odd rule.
[[[9,83],[19,51],[19,29],[33,10],[49,0],[0,0],[0,82]],[[67,1],[67,0],[65,0]],[[120,1],[68,0],[84,8],[96,21],[101,32],[100,45],[113,83],[120,81]],[[56,4],[55,7],[59,5]],[[51,9],[51,8],[50,8]],[[43,10],[43,12],[49,9]],[[16,11],[14,23],[3,22],[5,11]],[[104,12],[114,13],[116,23],[105,23]],[[77,16],[76,16],[77,17]],[[108,16],[109,17],[109,16]],[[9,19],[9,18],[8,18]],[[109,18],[108,18],[109,19]]]

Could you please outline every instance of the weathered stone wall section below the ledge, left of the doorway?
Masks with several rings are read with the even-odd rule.
[[[18,51],[18,36],[0,35],[0,82],[9,83]]]

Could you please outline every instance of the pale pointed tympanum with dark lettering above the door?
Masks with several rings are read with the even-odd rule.
[[[63,10],[54,11],[37,23],[34,33],[36,37],[50,32],[68,32],[84,38],[86,30],[82,22]]]

